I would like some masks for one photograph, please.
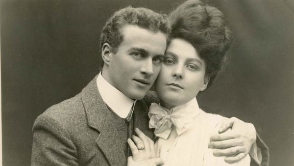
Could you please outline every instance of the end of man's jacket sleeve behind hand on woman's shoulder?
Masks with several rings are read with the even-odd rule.
[[[253,144],[249,151],[251,157],[250,166],[269,166],[270,153],[268,146],[256,134],[256,143]]]

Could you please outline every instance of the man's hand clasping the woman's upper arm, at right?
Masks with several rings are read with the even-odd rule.
[[[219,133],[211,136],[209,148],[214,148],[214,156],[226,156],[226,163],[236,163],[250,151],[256,140],[253,124],[232,117],[222,121]]]

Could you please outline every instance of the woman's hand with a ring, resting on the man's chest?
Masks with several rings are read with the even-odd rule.
[[[147,159],[156,158],[155,145],[153,140],[145,136],[138,128],[135,129],[137,136],[132,136],[132,139],[128,138],[127,143],[130,146],[135,162],[144,161]]]

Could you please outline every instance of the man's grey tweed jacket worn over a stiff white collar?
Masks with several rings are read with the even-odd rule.
[[[32,166],[125,166],[128,127],[103,102],[93,79],[79,94],[50,107],[33,125]],[[147,99],[136,102],[133,125],[149,138]]]

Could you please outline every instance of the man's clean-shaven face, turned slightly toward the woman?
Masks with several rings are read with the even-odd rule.
[[[126,25],[121,32],[123,41],[117,53],[109,55],[105,79],[129,98],[143,99],[159,74],[167,38],[135,25]]]

